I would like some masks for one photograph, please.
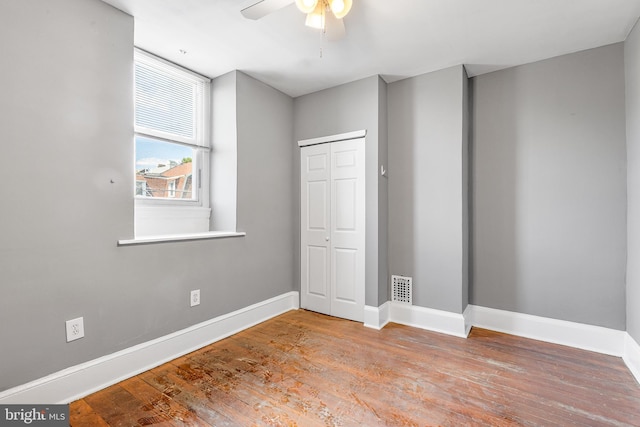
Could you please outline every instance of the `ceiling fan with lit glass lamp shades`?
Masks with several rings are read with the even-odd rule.
[[[295,3],[307,15],[305,25],[317,28],[328,40],[339,40],[346,34],[344,18],[351,10],[352,0],[260,0],[240,11],[247,19],[260,19]]]

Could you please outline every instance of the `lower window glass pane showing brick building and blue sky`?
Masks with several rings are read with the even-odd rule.
[[[136,196],[194,200],[195,150],[136,136]]]

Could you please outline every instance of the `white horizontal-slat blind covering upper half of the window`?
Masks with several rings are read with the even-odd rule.
[[[135,53],[135,130],[172,142],[208,147],[203,127],[208,79],[141,51]]]

